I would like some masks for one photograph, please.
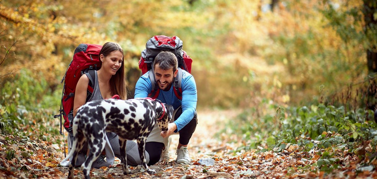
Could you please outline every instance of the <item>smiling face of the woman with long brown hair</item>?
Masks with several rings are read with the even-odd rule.
[[[110,73],[111,75],[115,75],[116,71],[118,71],[122,66],[123,54],[118,50],[111,52],[106,57],[101,54],[100,58],[102,61],[101,69]]]

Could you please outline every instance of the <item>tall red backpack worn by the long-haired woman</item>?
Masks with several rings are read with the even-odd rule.
[[[62,115],[64,118],[64,128],[67,132],[72,132],[75,90],[81,75],[86,74],[89,78],[86,101],[89,100],[93,93],[95,83],[94,70],[101,68],[100,60],[98,58],[101,48],[101,45],[80,44],[75,50],[73,59],[68,65],[63,79],[61,79],[60,83],[63,83],[64,81],[64,86],[61,94],[60,114],[54,116],[54,118],[60,117],[60,134],[63,134],[61,132]]]

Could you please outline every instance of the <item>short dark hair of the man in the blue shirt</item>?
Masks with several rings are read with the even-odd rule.
[[[161,51],[153,61],[153,66],[158,67],[162,70],[173,69],[175,72],[178,69],[178,60],[177,57],[172,52]]]

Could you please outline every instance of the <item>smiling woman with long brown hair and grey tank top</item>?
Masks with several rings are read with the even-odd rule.
[[[117,43],[107,42],[103,45],[98,55],[101,68],[98,71],[95,71],[95,76],[93,77],[90,75],[87,76],[86,74],[82,75],[76,85],[74,116],[76,115],[78,108],[89,101],[108,99],[112,98],[114,95],[119,95],[120,99],[127,99],[123,49]],[[94,78],[95,80],[93,93],[90,98],[87,99],[89,78]],[[101,155],[95,162],[93,162],[93,168],[100,168],[102,166],[109,167],[112,165],[112,161],[109,162],[109,158],[113,159],[114,157],[114,152],[112,150],[116,150],[115,154],[119,153],[118,136],[111,132],[107,132],[106,136],[110,141],[110,148],[109,146],[105,147],[106,153],[108,154],[108,152],[110,152],[110,156],[107,155],[108,162],[104,160],[105,155]],[[70,139],[70,141],[73,141],[73,135],[71,133]],[[70,144],[70,142],[68,143]],[[84,145],[83,149],[78,155],[78,160],[76,161],[75,167],[79,167],[85,161],[86,153],[87,145]]]

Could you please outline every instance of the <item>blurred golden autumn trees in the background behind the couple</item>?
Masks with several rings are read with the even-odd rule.
[[[367,79],[349,95],[362,98],[377,72],[376,19],[373,0],[0,0],[0,87],[26,69],[53,95],[78,44],[115,41],[132,98],[146,41],[176,35],[194,60],[198,106],[342,103],[343,87]]]

